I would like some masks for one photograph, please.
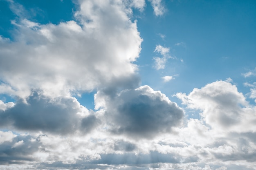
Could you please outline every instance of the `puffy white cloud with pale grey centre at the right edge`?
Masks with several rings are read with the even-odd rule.
[[[176,96],[188,108],[202,111],[202,119],[213,129],[246,132],[254,127],[255,107],[249,106],[243,94],[229,82],[213,82],[201,89],[194,88],[189,95]]]

